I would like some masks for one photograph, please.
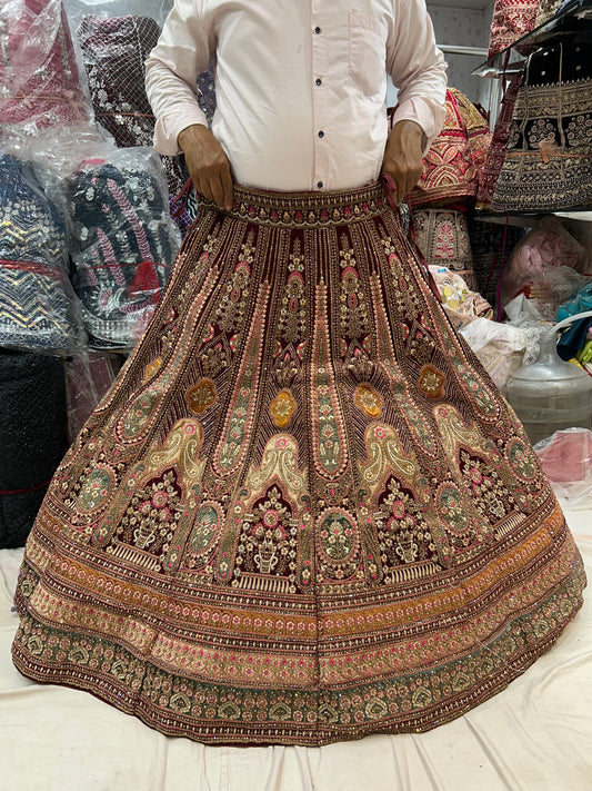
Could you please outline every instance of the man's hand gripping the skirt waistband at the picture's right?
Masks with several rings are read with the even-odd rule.
[[[423,129],[414,121],[399,121],[392,128],[382,160],[382,172],[388,174],[397,187],[395,202],[409,195],[418,184],[423,169]]]

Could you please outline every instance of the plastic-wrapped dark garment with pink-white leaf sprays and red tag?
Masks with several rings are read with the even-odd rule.
[[[181,243],[151,148],[117,148],[97,128],[38,136],[28,155],[66,217],[71,279],[93,348],[129,350],[160,299]]]

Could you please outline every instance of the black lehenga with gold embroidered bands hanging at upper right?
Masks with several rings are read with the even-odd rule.
[[[526,62],[495,211],[558,210],[592,201],[592,32],[559,36]]]

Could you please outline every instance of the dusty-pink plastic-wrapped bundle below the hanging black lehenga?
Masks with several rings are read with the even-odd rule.
[[[512,251],[503,276],[502,304],[523,293],[536,299],[543,318],[555,310],[582,284],[578,275],[585,250],[556,217],[543,217]]]

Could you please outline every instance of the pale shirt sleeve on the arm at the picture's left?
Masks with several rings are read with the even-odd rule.
[[[157,118],[154,148],[181,154],[177,137],[192,123],[208,126],[198,103],[198,76],[208,68],[215,38],[197,0],[174,0],[157,46],[146,61],[146,90]]]

